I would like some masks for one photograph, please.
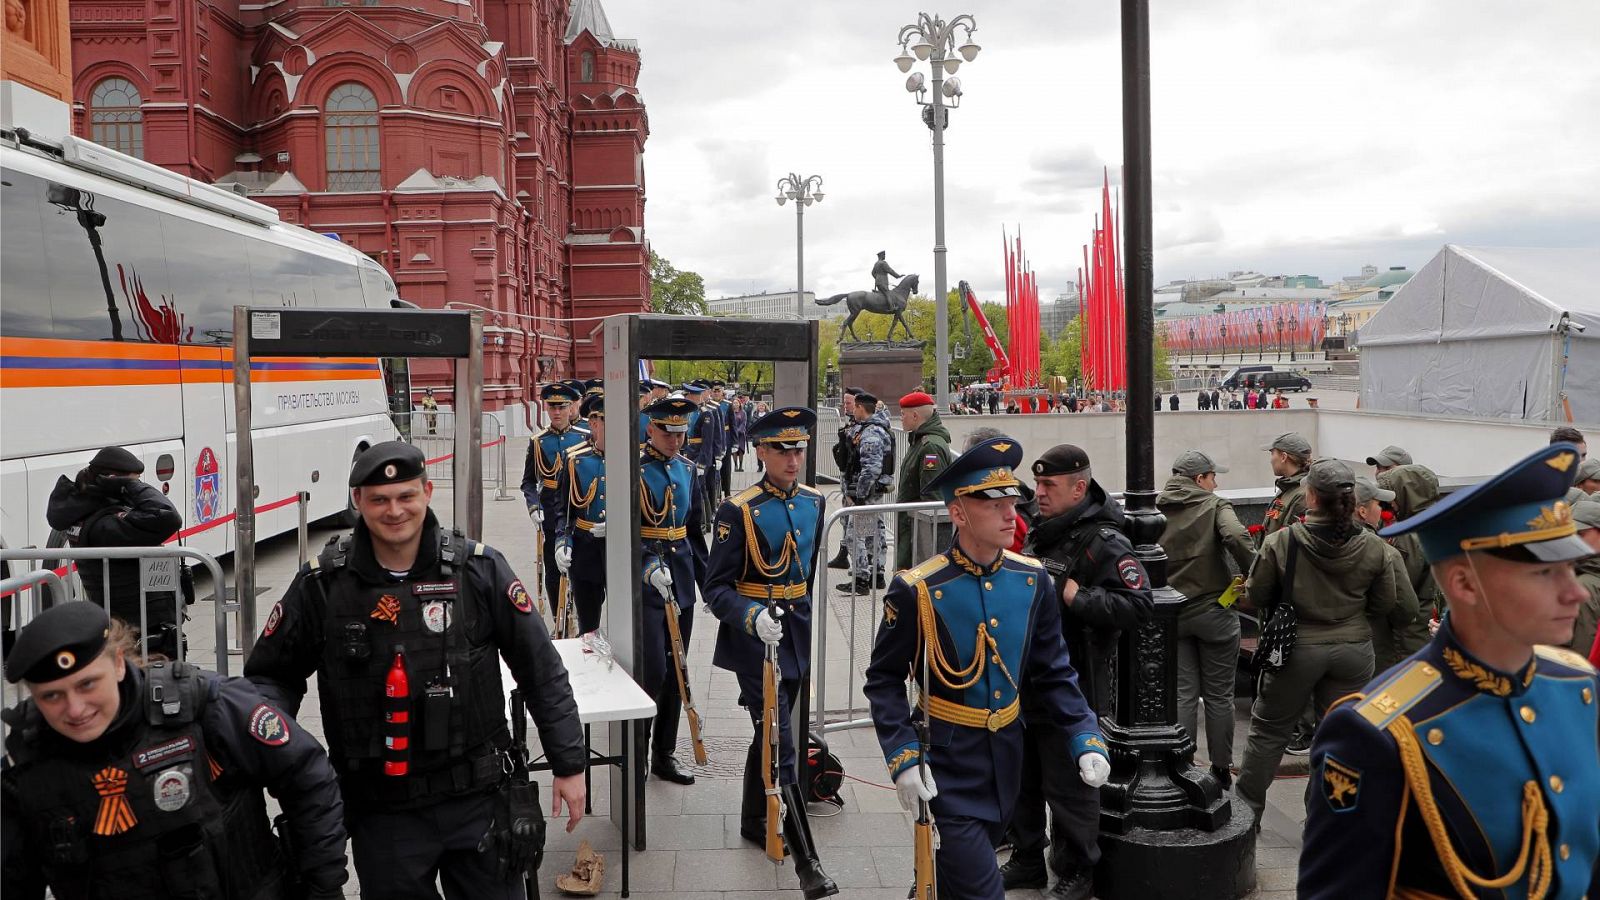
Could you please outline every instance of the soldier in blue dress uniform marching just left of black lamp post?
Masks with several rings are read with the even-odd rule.
[[[1058,591],[1038,560],[1005,549],[1021,460],[1016,440],[984,440],[928,484],[949,504],[955,541],[890,583],[867,665],[866,695],[901,806],[931,801],[941,897],[1005,897],[994,844],[1019,790],[1024,697],[1040,716],[1029,727],[1059,729],[1086,785],[1110,775],[1067,660]],[[925,692],[918,708],[906,700],[907,673]],[[926,743],[917,732],[925,717]]]

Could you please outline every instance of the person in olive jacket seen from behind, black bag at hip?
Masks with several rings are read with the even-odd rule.
[[[1382,538],[1355,520],[1355,472],[1317,460],[1306,472],[1306,522],[1274,532],[1256,556],[1245,593],[1266,621],[1278,602],[1294,604],[1294,649],[1261,676],[1235,793],[1261,822],[1267,788],[1307,700],[1317,713],[1373,677],[1371,615],[1395,607],[1395,575]],[[1299,544],[1293,583],[1290,546]]]

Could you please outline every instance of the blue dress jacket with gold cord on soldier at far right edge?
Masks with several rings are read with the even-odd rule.
[[[1446,617],[1317,730],[1299,897],[1600,895],[1597,695],[1582,657],[1539,647],[1501,673]]]

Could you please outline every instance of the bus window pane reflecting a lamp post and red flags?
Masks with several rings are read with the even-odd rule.
[[[194,304],[173,296],[155,213],[54,181],[45,183],[43,199],[38,218],[54,336],[184,340]]]

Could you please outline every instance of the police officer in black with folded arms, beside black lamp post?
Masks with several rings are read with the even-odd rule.
[[[1122,532],[1122,504],[1094,480],[1090,456],[1072,444],[1058,444],[1034,461],[1038,519],[1024,552],[1038,557],[1061,586],[1061,631],[1067,655],[1090,706],[1112,713],[1110,671],[1117,636],[1150,618],[1150,580]],[[1027,709],[1022,721],[1032,721]],[[1070,772],[1051,772],[1061,757],[1059,735],[1029,729],[1022,756],[1022,794],[1011,820],[1014,850],[1002,868],[1006,889],[1045,887],[1045,806],[1050,806],[1058,881],[1053,897],[1093,894],[1099,862],[1099,790]]]

